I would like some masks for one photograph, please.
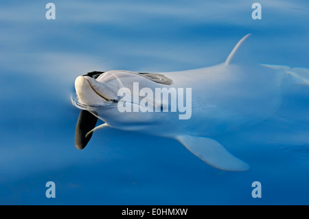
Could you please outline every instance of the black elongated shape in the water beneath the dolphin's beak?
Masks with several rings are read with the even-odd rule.
[[[76,124],[75,131],[75,146],[79,150],[84,149],[87,146],[87,143],[91,139],[92,133],[87,135],[89,130],[92,130],[97,124],[98,117],[90,113],[89,111],[80,111],[80,116],[78,117],[78,122]]]

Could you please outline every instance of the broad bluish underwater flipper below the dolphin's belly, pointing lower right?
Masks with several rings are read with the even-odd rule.
[[[249,170],[249,165],[234,157],[214,139],[180,135],[176,139],[205,163],[226,171]]]

